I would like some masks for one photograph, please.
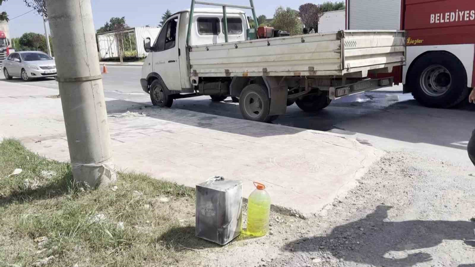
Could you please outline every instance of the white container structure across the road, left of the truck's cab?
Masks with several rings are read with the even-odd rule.
[[[143,48],[143,40],[149,37],[152,42],[157,38],[160,28],[156,27],[135,27],[125,29],[122,33],[124,57],[147,57],[147,52]],[[97,34],[97,44],[99,57],[111,59],[119,57],[119,34],[117,31],[109,31]]]

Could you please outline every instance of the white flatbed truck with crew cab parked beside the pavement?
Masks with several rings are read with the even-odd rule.
[[[195,4],[219,8],[195,9]],[[341,30],[256,39],[250,7],[195,2],[165,22],[142,67],[142,89],[153,105],[210,95],[239,101],[245,119],[271,122],[294,102],[306,112],[334,99],[393,85],[393,78],[368,78],[405,64],[404,31]],[[257,21],[255,19],[255,21]],[[254,38],[252,37],[254,34]]]

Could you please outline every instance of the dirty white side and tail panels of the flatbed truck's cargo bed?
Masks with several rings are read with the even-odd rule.
[[[334,33],[192,46],[191,77],[343,76],[405,64],[404,31]]]

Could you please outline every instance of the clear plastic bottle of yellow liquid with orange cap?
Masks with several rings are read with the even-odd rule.
[[[247,201],[247,234],[262,237],[269,231],[270,195],[262,183],[254,185]]]

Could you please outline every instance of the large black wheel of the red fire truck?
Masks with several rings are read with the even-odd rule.
[[[447,52],[431,52],[420,57],[408,79],[414,98],[428,107],[450,108],[470,94],[464,65]]]

